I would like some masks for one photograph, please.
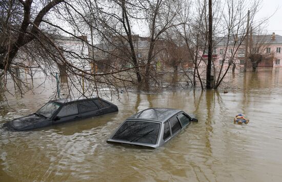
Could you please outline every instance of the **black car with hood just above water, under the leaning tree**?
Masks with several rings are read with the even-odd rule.
[[[23,131],[118,111],[102,98],[52,100],[33,114],[10,120],[4,127]]]

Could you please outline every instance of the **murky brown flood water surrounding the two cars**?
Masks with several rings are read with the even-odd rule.
[[[0,181],[281,181],[282,69],[230,79],[228,93],[128,92],[113,97],[117,113],[27,132],[0,129]],[[0,127],[50,95],[10,96],[9,106],[0,103]],[[199,122],[156,149],[106,143],[124,119],[148,107],[182,109]],[[233,124],[239,113],[248,125]]]

